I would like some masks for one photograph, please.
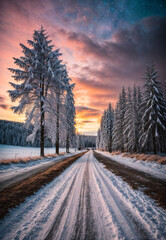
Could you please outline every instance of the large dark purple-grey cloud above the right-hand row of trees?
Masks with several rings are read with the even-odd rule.
[[[142,84],[147,64],[156,63],[161,80],[166,77],[166,17],[149,17],[130,29],[119,30],[113,40],[97,43],[88,36],[68,34],[68,39],[82,43],[82,54],[98,61],[82,68],[78,81],[108,92],[122,85]],[[97,59],[97,60],[96,60]]]

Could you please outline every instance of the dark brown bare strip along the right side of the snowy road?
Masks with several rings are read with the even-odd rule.
[[[97,151],[94,152],[95,158],[123,181],[127,182],[134,190],[140,190],[150,198],[154,199],[158,206],[166,209],[166,181],[155,178],[154,176],[133,169],[122,163],[106,157]]]

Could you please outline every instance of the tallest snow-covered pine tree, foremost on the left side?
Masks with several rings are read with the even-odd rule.
[[[20,69],[9,68],[14,73],[12,76],[14,80],[22,81],[21,84],[10,83],[14,88],[8,91],[12,101],[19,100],[19,105],[12,109],[15,113],[23,113],[27,110],[26,124],[34,125],[28,140],[34,141],[37,131],[40,130],[41,156],[44,156],[45,112],[47,112],[45,103],[52,79],[49,61],[54,58],[53,46],[47,39],[43,27],[34,31],[33,40],[28,40],[31,48],[20,44],[24,56],[14,58],[15,64]]]

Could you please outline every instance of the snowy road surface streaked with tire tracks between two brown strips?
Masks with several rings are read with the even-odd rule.
[[[166,211],[90,151],[0,221],[6,239],[165,239]]]

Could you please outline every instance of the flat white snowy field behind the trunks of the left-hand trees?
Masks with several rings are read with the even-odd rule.
[[[65,148],[60,148],[60,152],[65,152]],[[75,149],[71,148],[70,152]],[[45,148],[45,154],[55,153],[55,148]],[[35,147],[20,147],[12,145],[0,144],[0,160],[2,159],[17,159],[20,157],[37,157],[40,156],[40,148]]]

